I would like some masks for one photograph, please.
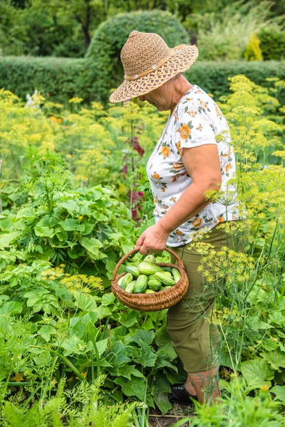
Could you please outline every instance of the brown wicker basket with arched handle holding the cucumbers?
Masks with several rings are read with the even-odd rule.
[[[145,312],[163,310],[177,304],[177,302],[180,301],[187,292],[188,278],[182,260],[180,260],[176,253],[169,248],[165,248],[165,251],[174,256],[176,265],[169,263],[157,263],[157,265],[160,265],[160,267],[177,268],[180,272],[180,280],[171,288],[149,294],[132,294],[130,292],[126,292],[118,285],[118,280],[125,275],[125,273],[121,273],[116,276],[118,268],[130,255],[138,251],[140,251],[140,248],[132,249],[132,251],[126,253],[115,266],[112,280],[112,290],[115,297],[117,297],[120,302],[123,302],[124,305],[127,305],[134,310]]]

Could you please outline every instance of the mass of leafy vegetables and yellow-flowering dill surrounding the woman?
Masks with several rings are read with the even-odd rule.
[[[195,423],[282,426],[285,107],[274,94],[285,83],[269,78],[269,90],[242,75],[230,81],[219,107],[247,220],[219,226],[245,251],[193,243],[201,268],[214,272],[206,287],[227,276],[212,318],[222,334],[222,399],[196,405]],[[130,310],[110,280],[152,223],[144,165],[167,114],[134,102],[86,108],[79,98],[65,110],[40,94],[25,106],[0,90],[0,115],[1,425],[147,426],[150,408],[172,408],[170,384],[185,372],[166,310]],[[227,204],[230,194],[215,197]],[[141,262],[137,253],[118,273]]]

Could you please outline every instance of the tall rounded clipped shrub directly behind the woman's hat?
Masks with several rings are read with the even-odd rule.
[[[90,61],[93,93],[102,101],[111,88],[123,81],[120,50],[133,31],[157,33],[170,48],[189,43],[187,32],[175,16],[166,11],[138,11],[118,14],[100,24],[90,43],[86,57]]]

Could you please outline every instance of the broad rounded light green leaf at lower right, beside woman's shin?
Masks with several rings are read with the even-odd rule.
[[[242,375],[247,384],[260,387],[266,379],[274,378],[274,371],[264,359],[246,360],[241,364]]]

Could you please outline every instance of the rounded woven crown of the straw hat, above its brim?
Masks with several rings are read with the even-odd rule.
[[[137,80],[151,73],[174,54],[158,34],[132,31],[120,53],[125,80]]]

